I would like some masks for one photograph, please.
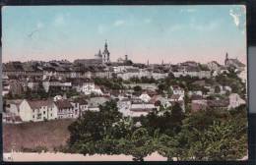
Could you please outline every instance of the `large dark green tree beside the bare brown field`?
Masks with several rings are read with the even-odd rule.
[[[115,139],[120,137],[114,137],[116,135],[122,135],[122,133],[116,133],[118,130],[114,125],[118,123],[122,118],[120,112],[116,107],[116,103],[113,100],[106,102],[104,105],[99,106],[99,112],[86,111],[82,117],[72,123],[68,130],[70,132],[70,138],[68,141],[69,149],[71,152],[80,152],[83,154],[95,154],[98,153],[98,145],[101,144],[106,148],[101,148],[101,152],[109,150],[106,141],[109,139]],[[126,135],[123,135],[126,136]],[[101,147],[102,147],[101,146]],[[116,152],[115,147],[110,148],[109,152]]]

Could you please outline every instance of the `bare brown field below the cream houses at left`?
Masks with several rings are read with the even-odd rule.
[[[56,120],[48,122],[24,123],[19,125],[3,124],[3,149],[34,148],[45,146],[53,150],[54,146],[65,144],[69,138],[68,126],[74,120]]]

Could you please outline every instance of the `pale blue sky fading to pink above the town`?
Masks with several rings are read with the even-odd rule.
[[[2,61],[94,58],[246,63],[246,9],[213,6],[9,6],[2,9]]]

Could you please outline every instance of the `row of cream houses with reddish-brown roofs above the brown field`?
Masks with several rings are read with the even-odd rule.
[[[106,97],[90,99],[54,98],[40,100],[7,100],[3,121],[7,123],[39,122],[45,120],[78,118],[87,110],[98,111],[98,105],[109,100]],[[19,119],[14,121],[14,119]]]

